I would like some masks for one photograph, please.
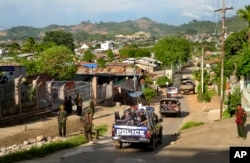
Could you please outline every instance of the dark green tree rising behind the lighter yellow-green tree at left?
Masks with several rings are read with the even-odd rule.
[[[53,42],[56,45],[66,46],[74,52],[74,43],[72,33],[64,32],[63,30],[46,32],[43,41],[46,43]]]

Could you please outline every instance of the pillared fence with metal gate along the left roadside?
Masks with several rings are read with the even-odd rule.
[[[112,84],[97,86],[96,100],[112,99]],[[15,80],[0,86],[0,117],[25,111],[54,110],[71,96],[77,95],[83,102],[93,97],[91,82],[84,81],[43,81],[37,78],[32,84]]]

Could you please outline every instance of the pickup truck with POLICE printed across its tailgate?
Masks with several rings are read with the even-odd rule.
[[[139,110],[127,109],[131,111],[132,122],[129,124],[117,123],[120,119],[119,112],[115,112],[115,123],[112,126],[112,140],[116,149],[121,149],[123,143],[145,144],[147,148],[155,150],[156,144],[162,143],[163,127],[154,112],[154,107],[144,106],[146,123],[143,125],[137,122]],[[122,118],[121,118],[122,119]]]

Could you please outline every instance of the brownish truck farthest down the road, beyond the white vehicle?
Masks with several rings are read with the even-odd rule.
[[[189,94],[189,93],[195,94],[194,81],[189,78],[182,79],[179,90],[181,94]]]

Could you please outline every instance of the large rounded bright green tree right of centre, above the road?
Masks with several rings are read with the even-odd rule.
[[[153,48],[156,59],[163,65],[185,63],[190,59],[191,43],[177,36],[165,37],[159,40]]]

